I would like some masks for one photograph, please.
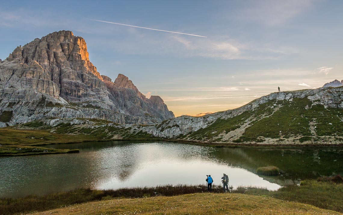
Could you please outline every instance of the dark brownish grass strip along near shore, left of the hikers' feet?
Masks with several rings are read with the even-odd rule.
[[[216,193],[222,192],[221,186],[214,186]],[[153,196],[175,196],[190,193],[207,192],[207,186],[166,185],[158,187],[122,188],[118,190],[76,189],[69,192],[52,193],[45,196],[27,196],[23,198],[0,198],[0,214],[15,214],[31,211],[66,207],[72,204],[102,200],[106,198],[141,198]]]

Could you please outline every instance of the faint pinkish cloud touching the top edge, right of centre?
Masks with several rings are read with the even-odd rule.
[[[243,10],[243,17],[267,26],[280,25],[304,12],[315,1],[317,0],[250,1],[250,8]]]

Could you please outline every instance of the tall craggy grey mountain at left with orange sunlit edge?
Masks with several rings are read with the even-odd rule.
[[[0,62],[0,127],[45,118],[154,124],[174,117],[160,97],[145,98],[125,75],[114,82],[100,75],[85,40],[71,31],[18,46]]]

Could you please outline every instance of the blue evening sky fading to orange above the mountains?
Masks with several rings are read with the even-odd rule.
[[[343,1],[0,1],[0,58],[60,30],[175,116],[240,107],[343,79]],[[135,28],[90,19],[206,37]]]

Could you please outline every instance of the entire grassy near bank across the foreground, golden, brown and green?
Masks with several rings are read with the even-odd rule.
[[[334,179],[336,182],[342,181],[342,178],[337,179],[337,177],[339,176]],[[343,184],[332,182],[332,178],[329,177],[318,180],[324,181],[305,180],[300,186],[286,186],[277,191],[238,187],[232,194],[224,194],[222,186],[214,186],[214,192],[207,193],[205,185],[166,185],[119,190],[77,189],[45,196],[0,198],[0,214],[28,213],[55,208],[59,209],[55,209],[53,213],[59,214],[82,214],[82,210],[83,213],[87,211],[87,214],[124,214],[125,212],[130,214],[139,212],[137,208],[140,207],[145,208],[140,209],[140,213],[152,214],[185,214],[186,211],[188,214],[242,214],[243,212],[245,214],[316,214],[323,212],[313,206],[342,213]],[[161,206],[161,202],[168,205]],[[114,204],[115,207],[107,203]],[[181,205],[183,206],[180,207]],[[79,211],[75,211],[76,208]],[[198,211],[199,208],[202,210]]]

